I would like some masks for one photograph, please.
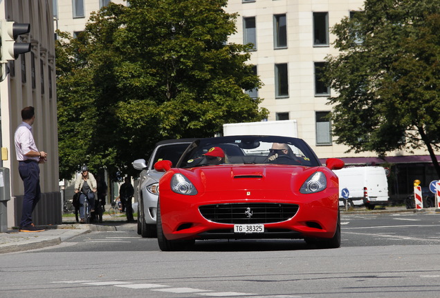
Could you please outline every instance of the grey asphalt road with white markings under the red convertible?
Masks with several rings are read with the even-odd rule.
[[[342,247],[205,241],[161,252],[136,230],[0,255],[1,297],[439,297],[440,215],[342,215]]]

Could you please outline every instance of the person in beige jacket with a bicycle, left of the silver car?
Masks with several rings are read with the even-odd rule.
[[[84,214],[84,201],[89,200],[91,212],[95,209],[95,193],[96,193],[96,179],[89,168],[82,166],[82,175],[78,176],[75,181],[75,193],[81,192],[80,195],[80,222],[84,224],[86,215]]]

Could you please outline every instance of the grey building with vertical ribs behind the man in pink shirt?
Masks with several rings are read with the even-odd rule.
[[[31,43],[31,50],[8,66],[9,74],[0,82],[1,148],[7,152],[2,166],[10,169],[8,226],[18,226],[21,219],[23,182],[19,177],[14,133],[21,123],[21,109],[35,107],[33,135],[39,150],[48,152],[48,162],[40,166],[42,198],[33,215],[34,224],[60,224],[61,196],[58,187],[57,96],[55,88],[55,41],[51,0],[0,1],[0,18],[30,23],[30,33],[17,42]],[[0,215],[3,217],[4,215]]]

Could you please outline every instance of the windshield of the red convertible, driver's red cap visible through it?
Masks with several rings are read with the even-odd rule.
[[[291,137],[235,136],[199,139],[187,148],[177,168],[219,164],[282,164],[321,166],[302,140]]]

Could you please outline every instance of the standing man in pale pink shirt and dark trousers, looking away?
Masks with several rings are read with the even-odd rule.
[[[32,212],[37,206],[41,189],[39,187],[39,165],[47,161],[47,153],[38,151],[35,145],[32,125],[35,109],[28,106],[21,110],[23,122],[15,130],[15,152],[19,161],[19,174],[24,183],[23,209],[21,211],[20,232],[42,232],[32,222]]]

